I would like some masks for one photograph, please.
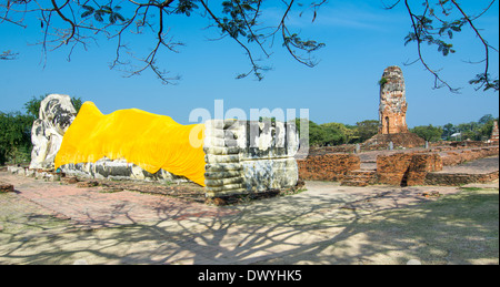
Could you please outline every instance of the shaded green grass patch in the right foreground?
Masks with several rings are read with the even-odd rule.
[[[499,191],[462,192],[359,222],[372,248],[396,264],[499,264]],[[391,253],[394,252],[396,253]],[[383,262],[382,262],[383,263]]]

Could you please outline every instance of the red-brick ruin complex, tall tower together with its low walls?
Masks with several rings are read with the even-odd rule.
[[[392,152],[377,156],[371,168],[362,168],[359,151],[423,147],[426,141],[408,130],[406,116],[408,103],[402,71],[389,66],[380,81],[379,133],[360,144],[311,148],[309,156],[298,161],[299,176],[308,181],[334,181],[342,185],[367,186],[370,184],[426,185],[463,184],[468,181],[498,178],[498,172],[481,176],[456,176],[434,174],[443,166],[457,165],[487,156],[498,155],[498,146],[484,146],[482,142],[440,143],[429,150]],[[491,142],[498,143],[498,123],[494,123]],[[431,146],[431,145],[429,145]],[[467,148],[467,150],[466,150]],[[359,150],[359,151],[357,151]],[[443,154],[444,151],[449,151]],[[376,167],[374,167],[376,165]]]

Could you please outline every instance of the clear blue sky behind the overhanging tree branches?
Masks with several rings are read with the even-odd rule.
[[[468,11],[479,11],[489,3],[462,2]],[[250,69],[247,57],[230,39],[208,41],[217,32],[203,29],[209,23],[207,19],[171,18],[170,34],[186,47],[179,48],[180,53],[163,50],[158,64],[172,75],[182,76],[177,85],[161,84],[150,71],[123,78],[120,71],[110,70],[116,42],[106,39],[90,44],[88,51],[77,49],[69,62],[68,49],[49,52],[43,66],[41,47],[32,45],[42,38],[39,21],[27,29],[1,23],[0,51],[12,50],[19,57],[14,61],[0,61],[0,111],[22,110],[33,95],[61,93],[92,101],[103,113],[137,107],[170,115],[183,124],[189,123],[193,109],[213,112],[214,100],[224,100],[226,110],[238,107],[249,113],[250,109],[264,107],[309,109],[310,120],[317,123],[356,124],[378,119],[377,82],[387,66],[399,65],[406,78],[410,127],[478,121],[484,114],[498,116],[498,93],[474,91],[468,84],[481,68],[464,61],[482,60],[482,48],[470,29],[454,37],[456,54],[442,58],[436,48],[424,49],[433,68],[443,68],[442,76],[453,86],[463,88],[460,94],[433,90],[433,78],[421,64],[403,64],[417,58],[413,44],[404,47],[410,21],[403,8],[386,11],[380,1],[329,1],[319,10],[314,23],[310,12],[301,18],[292,14],[290,28],[300,31],[303,38],[327,44],[316,53],[319,64],[311,69],[298,63],[277,42],[272,57],[264,62],[273,69],[260,82],[251,76],[234,79]],[[268,7],[264,12],[262,20],[276,22],[282,10]],[[496,2],[477,23],[496,48],[498,13]],[[128,39],[139,51],[153,45],[146,37]],[[490,65],[491,74],[498,76],[497,52],[492,52]]]

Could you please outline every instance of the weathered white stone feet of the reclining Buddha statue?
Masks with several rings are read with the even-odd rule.
[[[208,196],[292,187],[299,180],[294,123],[211,120],[206,123]]]

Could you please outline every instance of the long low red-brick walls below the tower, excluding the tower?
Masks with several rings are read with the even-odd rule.
[[[298,161],[299,178],[303,181],[340,182],[348,186],[387,184],[396,186],[414,185],[461,185],[472,182],[491,182],[499,173],[447,174],[436,173],[443,166],[452,166],[489,156],[498,156],[498,145],[484,145],[464,150],[461,146],[440,146],[434,150],[420,150],[380,154],[376,167],[362,168],[358,154],[318,154]]]

